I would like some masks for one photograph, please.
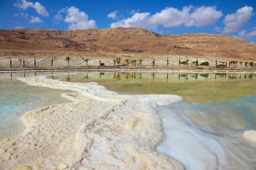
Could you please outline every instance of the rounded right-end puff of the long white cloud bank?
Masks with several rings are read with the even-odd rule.
[[[216,6],[196,8],[191,14],[191,19],[194,20],[196,27],[205,27],[210,24],[215,24],[222,17],[222,12],[216,10]]]

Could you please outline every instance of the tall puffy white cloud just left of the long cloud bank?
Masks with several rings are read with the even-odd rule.
[[[85,12],[79,11],[79,8],[73,6],[68,8],[64,22],[70,24],[69,29],[97,28],[94,20],[88,20],[88,15]]]

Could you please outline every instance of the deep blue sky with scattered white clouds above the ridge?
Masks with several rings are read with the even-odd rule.
[[[256,43],[256,1],[0,0],[0,29],[144,27],[162,34],[228,34]]]

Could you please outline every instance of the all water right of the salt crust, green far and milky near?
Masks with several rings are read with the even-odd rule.
[[[256,169],[255,74],[88,73],[53,76],[97,82],[120,94],[175,94],[183,102],[160,106],[166,139],[157,147],[187,169]]]

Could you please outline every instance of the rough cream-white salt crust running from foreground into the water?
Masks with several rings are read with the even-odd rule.
[[[184,169],[156,151],[164,134],[154,109],[182,97],[119,95],[97,83],[46,76],[18,79],[74,92],[62,95],[71,103],[35,109],[20,118],[26,130],[0,140],[0,169]]]

